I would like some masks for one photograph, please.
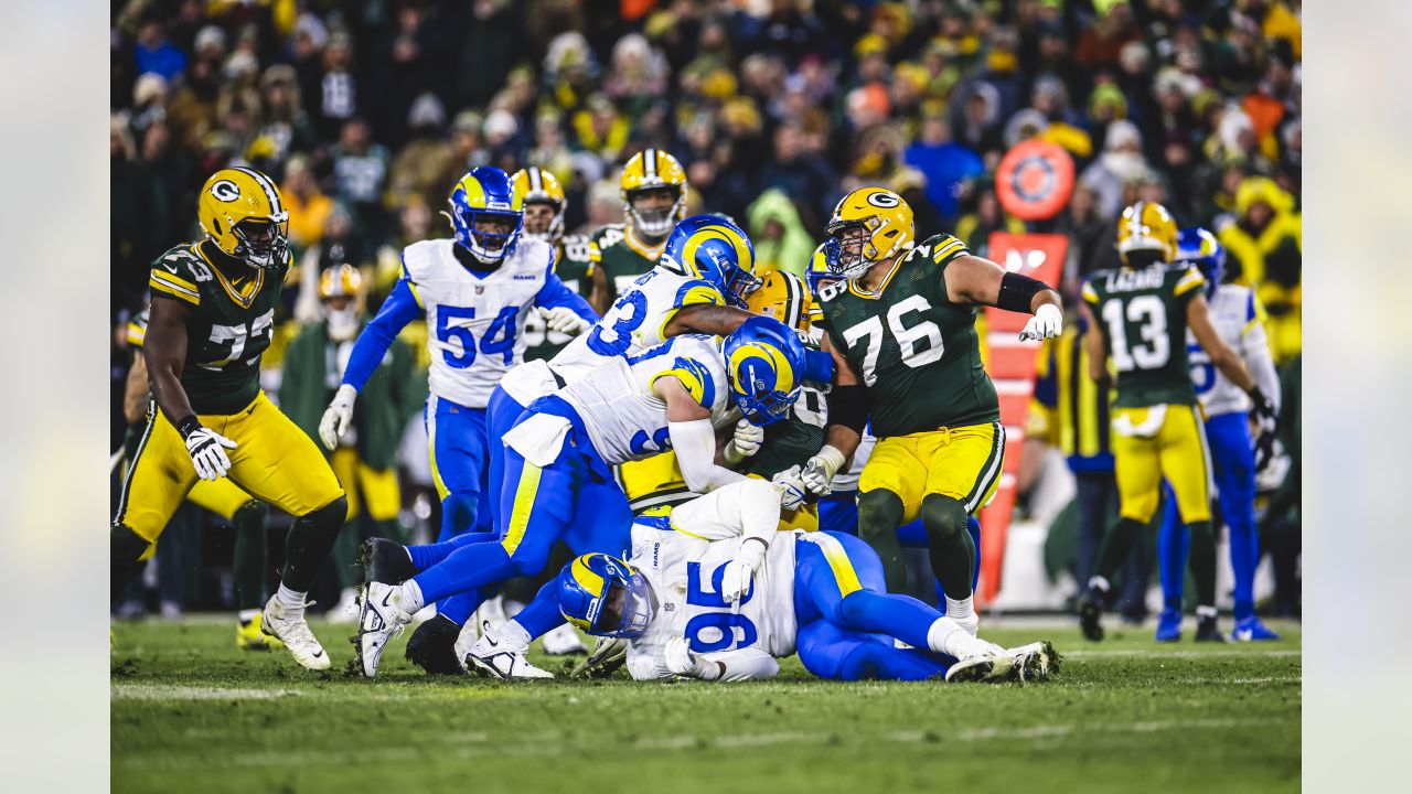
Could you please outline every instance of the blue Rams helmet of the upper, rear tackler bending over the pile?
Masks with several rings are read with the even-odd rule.
[[[722,215],[693,215],[678,223],[666,237],[661,264],[710,283],[740,308],[746,308],[746,295],[760,287],[755,247],[740,226]]]

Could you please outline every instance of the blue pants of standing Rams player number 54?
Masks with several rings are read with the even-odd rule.
[[[436,540],[470,531],[490,531],[490,511],[481,494],[490,493],[486,410],[467,408],[432,394],[422,411],[431,445],[432,478],[442,496],[442,526]]]

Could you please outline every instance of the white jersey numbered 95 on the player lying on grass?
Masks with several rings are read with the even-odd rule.
[[[755,571],[754,585],[734,615],[720,596],[727,562],[740,552],[744,492],[737,483],[699,496],[666,519],[633,524],[628,562],[657,593],[657,612],[627,648],[635,680],[671,678],[664,648],[686,637],[696,653],[762,651],[775,658],[795,653],[799,633],[794,609],[795,541],[802,533],[777,533]]]

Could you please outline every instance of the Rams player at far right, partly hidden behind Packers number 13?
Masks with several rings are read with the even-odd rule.
[[[1176,263],[1196,266],[1206,278],[1210,319],[1221,340],[1238,350],[1260,391],[1268,394],[1279,410],[1279,376],[1265,340],[1265,309],[1248,287],[1221,284],[1226,249],[1206,229],[1182,229],[1176,239]],[[1250,397],[1221,374],[1187,329],[1186,350],[1190,356],[1192,384],[1206,417],[1206,442],[1216,475],[1216,496],[1221,517],[1230,527],[1231,569],[1236,574],[1236,629],[1231,637],[1241,641],[1278,640],[1255,617],[1255,567],[1260,564],[1260,537],[1255,533],[1255,472],[1261,456],[1272,452],[1275,417],[1250,417]],[[1261,422],[1260,444],[1251,441],[1250,420]],[[1257,449],[1260,452],[1257,454]],[[1168,499],[1158,535],[1162,569],[1162,600],[1156,639],[1182,636],[1182,585],[1186,569],[1187,533],[1180,523],[1176,500]]]

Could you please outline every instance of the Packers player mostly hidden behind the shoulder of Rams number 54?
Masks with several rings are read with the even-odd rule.
[[[590,298],[600,315],[607,305],[593,304],[593,274],[599,267],[599,246],[585,235],[563,233],[563,211],[569,199],[558,177],[537,165],[521,168],[510,178],[522,196],[525,237],[554,246],[554,273],[569,290]],[[541,309],[525,315],[525,360],[552,359],[573,339],[579,316],[570,311]]]

